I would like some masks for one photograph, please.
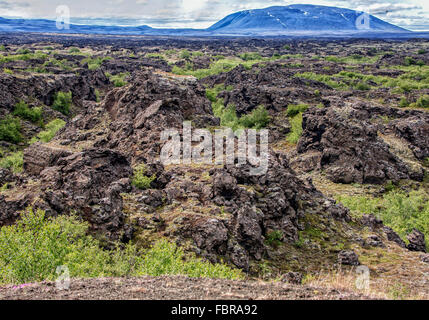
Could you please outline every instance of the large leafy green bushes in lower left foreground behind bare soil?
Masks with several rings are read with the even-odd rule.
[[[66,266],[71,277],[80,278],[179,274],[243,278],[239,270],[186,255],[167,241],[144,252],[132,244],[103,250],[88,235],[88,227],[73,215],[47,218],[41,210],[27,209],[15,225],[0,229],[0,284],[55,280],[59,266]]]

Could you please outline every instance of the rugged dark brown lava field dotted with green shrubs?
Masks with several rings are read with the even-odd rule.
[[[0,34],[0,72],[0,298],[429,298],[429,41]],[[267,172],[163,165],[184,121]]]

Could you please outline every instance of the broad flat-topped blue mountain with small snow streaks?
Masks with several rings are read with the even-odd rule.
[[[407,32],[374,16],[369,28],[358,29],[356,22],[363,12],[336,7],[290,5],[246,10],[231,14],[208,30],[216,33],[296,33],[296,32]],[[363,25],[364,26],[364,25]]]

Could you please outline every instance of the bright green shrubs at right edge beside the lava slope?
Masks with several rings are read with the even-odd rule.
[[[417,228],[425,234],[429,246],[429,194],[418,190],[406,193],[392,190],[383,197],[339,196],[337,200],[355,215],[373,213],[405,239]]]

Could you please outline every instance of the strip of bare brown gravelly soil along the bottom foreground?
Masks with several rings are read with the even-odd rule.
[[[371,297],[335,289],[282,282],[229,281],[188,277],[73,279],[69,290],[55,282],[0,288],[2,300],[363,300]]]

